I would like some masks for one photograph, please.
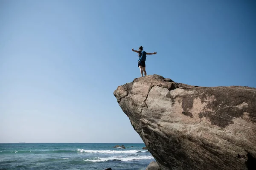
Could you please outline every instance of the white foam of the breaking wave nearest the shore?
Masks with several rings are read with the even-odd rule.
[[[110,161],[110,160],[133,161],[133,160],[142,160],[142,159],[154,159],[154,157],[153,156],[132,156],[132,157],[126,157],[126,158],[118,158],[118,157],[100,158],[100,157],[96,157],[95,159],[84,159],[84,161],[104,162],[104,161]]]

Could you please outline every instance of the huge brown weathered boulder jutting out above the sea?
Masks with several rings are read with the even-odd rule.
[[[256,88],[198,87],[150,75],[114,95],[162,170],[256,167]]]

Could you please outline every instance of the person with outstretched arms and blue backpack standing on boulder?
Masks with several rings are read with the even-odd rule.
[[[145,61],[146,61],[146,55],[152,55],[152,54],[157,54],[157,52],[154,52],[154,53],[147,53],[145,51],[143,51],[143,46],[140,46],[139,48],[139,51],[137,50],[134,50],[133,48],[131,49],[132,51],[136,52],[136,53],[139,53],[138,56],[139,56],[139,60],[138,60],[138,67],[140,68],[140,74],[141,74],[141,77],[143,77],[143,71],[144,71],[144,75],[146,76],[147,75],[147,72],[146,72],[146,64],[145,64]]]

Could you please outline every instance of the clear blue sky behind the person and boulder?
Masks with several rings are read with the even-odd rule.
[[[0,142],[142,142],[113,91],[148,74],[256,87],[254,0],[0,0]]]

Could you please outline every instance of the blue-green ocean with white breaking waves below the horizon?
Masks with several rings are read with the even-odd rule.
[[[126,149],[114,148],[124,145]],[[145,170],[154,157],[145,144],[0,144],[0,170]]]

